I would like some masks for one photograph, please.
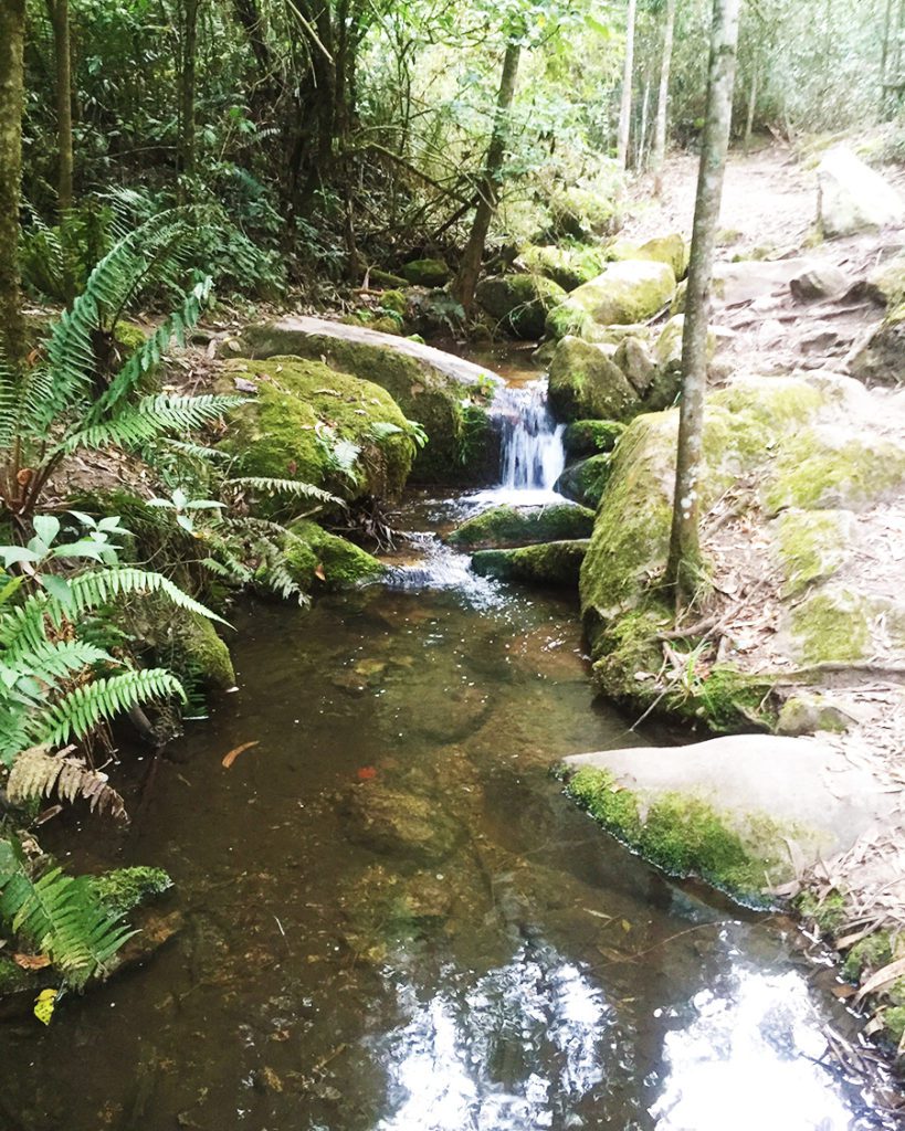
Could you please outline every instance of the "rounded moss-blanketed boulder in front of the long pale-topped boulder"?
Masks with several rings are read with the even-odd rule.
[[[244,475],[301,480],[348,501],[402,495],[415,443],[386,389],[294,356],[232,362],[229,378],[256,387],[225,441]]]

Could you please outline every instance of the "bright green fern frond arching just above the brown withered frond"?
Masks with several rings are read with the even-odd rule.
[[[59,746],[70,737],[84,739],[98,723],[149,702],[176,696],[186,700],[179,680],[164,668],[122,672],[83,684],[58,700],[32,723],[37,743]]]

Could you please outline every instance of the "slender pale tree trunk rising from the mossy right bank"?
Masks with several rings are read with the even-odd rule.
[[[676,601],[683,604],[693,597],[703,567],[698,527],[699,483],[704,470],[707,329],[710,318],[710,278],[723,197],[723,173],[732,126],[739,7],[740,0],[714,0],[707,118],[704,127],[695,226],[691,235],[691,262],[688,271],[675,499],[666,568],[667,581],[675,588]]]

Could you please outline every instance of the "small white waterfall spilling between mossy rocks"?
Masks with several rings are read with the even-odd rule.
[[[500,486],[507,491],[552,491],[562,474],[563,425],[546,398],[546,381],[508,385],[493,399],[501,423]]]

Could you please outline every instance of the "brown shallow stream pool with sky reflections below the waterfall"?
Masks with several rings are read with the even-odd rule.
[[[166,867],[181,930],[0,1028],[3,1131],[893,1125],[824,1059],[853,1025],[791,923],[562,797],[551,762],[650,734],[594,701],[569,601],[440,547],[482,504],[414,498],[390,585],[239,611],[238,692],[128,762],[131,829],[58,834],[79,866]]]

